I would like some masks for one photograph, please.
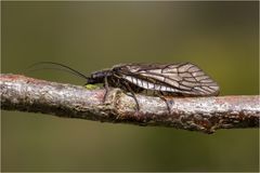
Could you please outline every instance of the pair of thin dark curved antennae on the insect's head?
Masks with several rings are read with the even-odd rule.
[[[62,67],[62,68],[38,68],[38,69],[31,69],[36,66],[40,66],[40,65],[55,65],[57,67]],[[54,62],[39,62],[39,63],[35,63],[32,65],[30,65],[29,67],[27,67],[27,70],[29,71],[36,71],[36,70],[41,70],[41,69],[55,69],[55,70],[62,70],[62,71],[65,71],[65,72],[68,72],[68,74],[72,74],[74,76],[77,76],[77,77],[81,77],[83,79],[89,79],[89,77],[87,77],[86,75],[79,72],[78,70],[72,68],[72,67],[68,67],[66,65],[63,65],[61,63],[54,63]]]

